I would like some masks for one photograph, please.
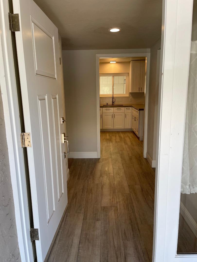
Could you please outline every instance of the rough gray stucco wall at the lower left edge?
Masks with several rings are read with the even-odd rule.
[[[20,262],[8,147],[0,92],[0,261]]]

